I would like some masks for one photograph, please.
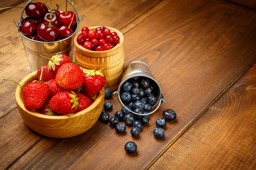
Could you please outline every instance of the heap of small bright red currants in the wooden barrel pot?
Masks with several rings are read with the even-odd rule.
[[[120,41],[120,37],[116,32],[111,32],[105,26],[98,27],[95,30],[84,27],[76,40],[79,45],[87,50],[106,51],[114,48]]]

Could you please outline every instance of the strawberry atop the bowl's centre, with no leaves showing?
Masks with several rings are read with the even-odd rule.
[[[76,90],[84,81],[84,74],[81,68],[72,63],[62,65],[55,77],[55,83],[59,88]]]

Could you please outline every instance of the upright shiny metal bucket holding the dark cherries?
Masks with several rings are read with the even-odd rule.
[[[23,18],[22,18],[23,13],[25,11],[26,6],[31,1],[32,0],[29,0],[29,2],[24,6],[23,11],[21,12],[21,15],[20,15],[20,23],[17,24],[14,21],[16,26],[19,28],[19,32],[20,32],[20,25],[23,20]],[[74,26],[75,30],[74,30],[74,33],[70,37],[67,37],[67,38],[61,40],[61,42],[59,42],[59,41],[40,42],[40,41],[31,40],[28,37],[25,37],[20,32],[20,34],[22,36],[21,39],[22,39],[22,42],[23,42],[23,45],[24,45],[24,48],[26,51],[26,56],[29,61],[29,67],[30,67],[31,72],[36,71],[42,65],[47,65],[49,62],[49,60],[41,58],[41,57],[39,57],[39,55],[51,58],[53,55],[56,55],[56,54],[65,54],[71,60],[73,60],[74,38],[76,36],[76,31],[78,30],[79,22],[81,20],[83,20],[84,14],[82,15],[81,20],[80,20],[80,17],[78,15],[78,12],[77,12],[75,6],[70,2],[70,0],[67,0],[67,1],[75,9],[76,16],[77,16],[76,25]]]

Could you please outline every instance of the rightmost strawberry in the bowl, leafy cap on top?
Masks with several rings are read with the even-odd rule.
[[[99,71],[96,71],[95,69],[83,70],[85,78],[82,87],[85,96],[95,96],[106,84],[106,77],[104,76],[102,69]]]

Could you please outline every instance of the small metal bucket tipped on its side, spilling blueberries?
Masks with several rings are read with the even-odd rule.
[[[154,88],[154,95],[157,99],[157,102],[155,105],[152,106],[152,108],[154,108],[154,106],[157,105],[157,103],[159,102],[159,104],[157,105],[157,108],[154,111],[151,111],[150,113],[147,114],[140,114],[140,113],[136,113],[134,111],[129,110],[125,104],[122,102],[121,100],[121,94],[123,92],[122,90],[122,85],[124,82],[128,81],[131,78],[134,77],[147,77],[149,79],[149,83],[150,85],[153,86]],[[153,74],[152,74],[152,70],[150,68],[150,66],[148,64],[146,64],[145,62],[142,61],[134,61],[131,62],[130,64],[128,64],[125,67],[124,73],[122,75],[122,80],[120,82],[120,85],[117,89],[116,92],[114,92],[114,94],[118,94],[118,99],[121,102],[121,104],[127,109],[129,110],[131,113],[137,114],[137,115],[149,115],[154,113],[155,111],[157,111],[157,109],[160,107],[161,103],[165,102],[163,99],[163,94],[160,88],[160,85],[158,84],[157,80],[154,78]]]

